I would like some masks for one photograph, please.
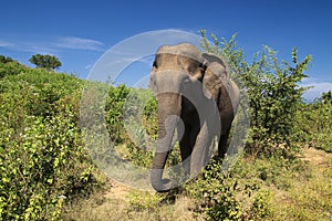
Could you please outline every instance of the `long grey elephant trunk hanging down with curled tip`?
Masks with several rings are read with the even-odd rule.
[[[159,131],[151,172],[151,182],[156,191],[165,192],[172,189],[172,181],[163,179],[163,173],[168,154],[173,148],[172,140],[178,116],[180,115],[181,98],[179,94],[164,93],[157,96],[157,101]]]

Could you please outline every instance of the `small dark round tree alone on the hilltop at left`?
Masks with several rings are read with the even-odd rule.
[[[53,71],[62,65],[56,56],[49,54],[34,54],[30,57],[29,62],[35,64],[37,67],[43,67],[50,71]]]

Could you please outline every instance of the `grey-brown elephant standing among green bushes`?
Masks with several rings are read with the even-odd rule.
[[[214,154],[214,137],[218,137],[217,156],[226,155],[240,91],[221,57],[203,53],[190,43],[157,50],[149,87],[157,99],[158,118],[151,183],[156,191],[166,192],[175,188],[173,180],[163,179],[175,130],[185,173],[191,178]]]

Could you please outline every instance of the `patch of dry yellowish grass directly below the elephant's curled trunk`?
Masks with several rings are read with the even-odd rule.
[[[195,206],[187,197],[163,200],[163,196],[155,192],[134,190],[115,182],[110,182],[108,187],[104,192],[65,206],[62,218],[80,221],[204,220],[193,213]]]

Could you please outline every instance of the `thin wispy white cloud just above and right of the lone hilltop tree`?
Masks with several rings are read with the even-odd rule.
[[[92,39],[83,39],[76,36],[62,38],[59,42],[55,43],[55,46],[62,49],[104,51],[104,43]]]

